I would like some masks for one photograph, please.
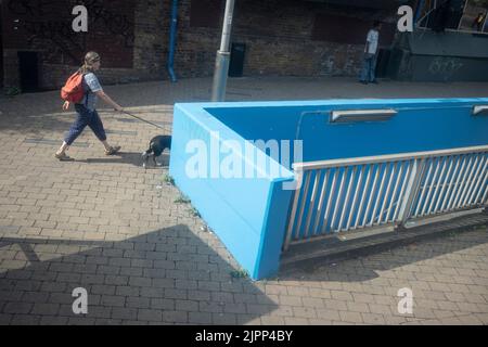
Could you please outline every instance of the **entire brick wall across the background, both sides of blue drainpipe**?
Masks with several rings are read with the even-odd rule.
[[[38,52],[39,83],[46,89],[60,87],[88,50],[102,55],[104,83],[168,79],[171,1],[2,1],[4,85],[20,83],[21,50]],[[88,34],[69,30],[70,11],[79,3],[89,10]],[[179,1],[175,56],[179,78],[213,75],[223,8],[224,0]],[[246,44],[244,76],[356,76],[367,33],[359,29],[361,43],[357,37],[333,42],[321,36],[334,29],[321,25],[321,15],[336,16],[338,22],[352,17],[368,26],[376,18],[391,20],[390,12],[303,0],[237,0],[232,42]],[[341,25],[335,29],[347,30]]]

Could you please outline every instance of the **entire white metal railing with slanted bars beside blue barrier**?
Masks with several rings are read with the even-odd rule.
[[[326,233],[386,224],[401,229],[408,220],[488,203],[488,145],[296,163],[293,168],[299,184],[284,250]]]

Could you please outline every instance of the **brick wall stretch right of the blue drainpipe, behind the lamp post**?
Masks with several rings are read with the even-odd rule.
[[[179,76],[210,76],[216,51],[220,46],[223,0],[204,0],[221,3],[217,28],[191,26],[190,9],[202,0],[180,1],[180,22],[176,70]],[[350,17],[362,25],[352,43],[313,38],[320,14],[338,18]],[[391,9],[367,10],[326,5],[299,0],[239,0],[235,2],[232,41],[246,44],[244,76],[357,76],[364,48],[368,26],[374,20],[395,21]],[[344,25],[331,30],[348,30]],[[349,28],[350,29],[350,28]],[[387,46],[393,26],[386,26]],[[347,36],[347,35],[346,35]]]

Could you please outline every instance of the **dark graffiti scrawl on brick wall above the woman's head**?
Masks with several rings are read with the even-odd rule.
[[[125,51],[131,56],[134,25],[128,14],[117,11],[113,2],[110,5],[103,0],[76,2],[10,0],[7,9],[9,16],[18,23],[27,44],[31,48],[49,47],[49,51],[46,52],[48,56],[62,53],[74,63],[79,63],[80,55],[89,50],[93,42],[98,47],[116,44],[119,52]],[[82,4],[88,9],[88,33],[73,30],[72,21],[75,16],[72,10],[76,4]],[[119,55],[124,55],[124,52]]]

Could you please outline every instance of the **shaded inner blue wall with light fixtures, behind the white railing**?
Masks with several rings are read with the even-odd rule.
[[[304,162],[313,162],[486,144],[488,117],[471,114],[479,104],[488,98],[235,103],[207,110],[246,139],[293,140],[300,124]],[[329,124],[328,115],[313,113],[360,108],[399,113],[388,121],[358,124]]]

